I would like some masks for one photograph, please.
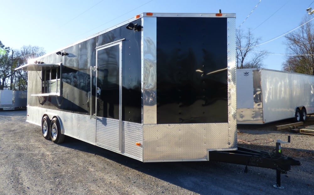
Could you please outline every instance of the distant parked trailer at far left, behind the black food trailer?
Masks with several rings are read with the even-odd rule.
[[[0,110],[25,109],[27,91],[0,90]]]

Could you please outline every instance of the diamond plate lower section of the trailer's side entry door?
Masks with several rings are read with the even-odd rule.
[[[96,144],[120,151],[119,120],[97,117]]]

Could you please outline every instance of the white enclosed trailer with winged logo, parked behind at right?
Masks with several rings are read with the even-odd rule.
[[[270,69],[237,69],[237,123],[263,124],[314,112],[314,76]]]

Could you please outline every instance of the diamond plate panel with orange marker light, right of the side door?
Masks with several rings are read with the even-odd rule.
[[[122,131],[124,132],[124,154],[143,160],[143,125],[123,121]],[[137,146],[137,142],[141,145]]]

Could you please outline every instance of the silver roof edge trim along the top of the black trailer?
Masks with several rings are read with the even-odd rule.
[[[86,41],[86,40],[89,40],[89,39],[91,39],[91,38],[97,37],[97,36],[99,36],[99,35],[101,35],[101,34],[104,34],[104,33],[108,32],[108,31],[114,29],[114,28],[121,27],[121,26],[126,25],[126,24],[128,24],[128,23],[130,23],[130,22],[133,22],[134,20],[137,20],[137,19],[139,19],[139,18],[144,18],[144,17],[236,18],[236,14],[235,14],[235,13],[222,13],[222,16],[216,16],[216,13],[151,13],[151,12],[144,12],[144,13],[141,13],[141,14],[139,14],[139,15],[137,15],[137,16],[139,16],[139,17],[138,17],[138,18],[135,18],[135,17],[130,18],[130,19],[124,21],[124,22],[121,22],[121,23],[115,25],[115,26],[112,26],[112,27],[110,27],[110,28],[107,28],[107,29],[105,29],[105,30],[102,30],[102,31],[100,31],[99,33],[93,34],[93,35],[91,35],[91,36],[89,36],[89,37],[86,37],[86,38],[83,38],[83,39],[81,39],[81,40],[79,40],[79,41],[77,41],[77,42],[74,42],[73,44],[69,44],[69,45],[64,46],[64,47],[62,47],[62,48],[60,48],[60,49],[54,50],[54,51],[52,51],[52,52],[50,52],[50,53],[47,53],[47,54],[45,54],[45,55],[43,55],[43,56],[40,56],[40,57],[38,57],[38,58],[35,58],[34,60],[40,59],[40,58],[43,58],[43,57],[46,57],[46,56],[51,55],[51,54],[53,54],[53,53],[56,53],[56,52],[58,52],[58,51],[62,51],[63,49],[67,49],[67,48],[69,48],[69,47],[72,47],[73,45],[76,45],[76,44],[82,43],[82,42],[84,42],[84,41]],[[21,67],[19,67],[18,69],[21,69]],[[18,70],[18,69],[15,69],[15,70]]]

